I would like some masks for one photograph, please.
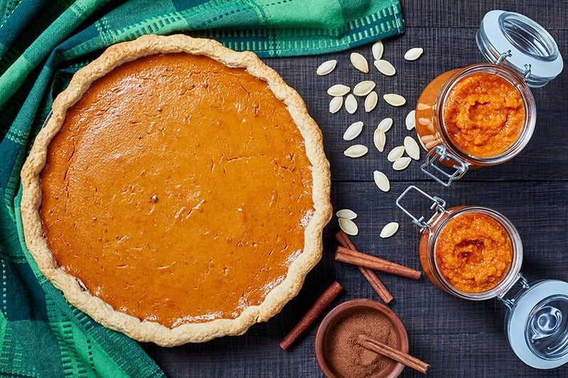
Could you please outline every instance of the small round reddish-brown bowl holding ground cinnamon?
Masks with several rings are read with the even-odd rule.
[[[391,321],[391,326],[398,337],[398,345],[400,350],[408,353],[408,334],[406,328],[400,318],[384,304],[371,299],[353,299],[339,304],[332,311],[329,311],[327,316],[320,323],[320,328],[317,329],[315,336],[315,355],[320,369],[328,378],[340,378],[341,376],[335,371],[334,367],[329,363],[326,350],[329,349],[329,334],[337,324],[344,321],[349,316],[352,316],[356,311],[369,310],[378,311]],[[371,324],[369,326],[372,326]],[[381,341],[381,340],[379,340]],[[403,371],[404,365],[400,362],[392,362],[388,364],[381,371],[373,372],[376,377],[398,377]]]

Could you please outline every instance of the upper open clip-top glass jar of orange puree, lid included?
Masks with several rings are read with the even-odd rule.
[[[536,123],[530,87],[562,71],[550,33],[519,13],[486,13],[476,43],[488,63],[440,74],[415,108],[422,171],[444,186],[468,169],[506,162],[523,150]]]

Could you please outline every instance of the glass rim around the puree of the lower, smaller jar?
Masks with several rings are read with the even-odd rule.
[[[484,206],[463,206],[460,209],[450,208],[447,209],[447,212],[449,213],[449,216],[441,219],[439,225],[436,225],[434,232],[430,234],[430,238],[431,240],[433,240],[432,265],[435,267],[435,270],[437,272],[437,276],[439,278],[438,283],[442,286],[444,290],[448,291],[450,294],[453,294],[454,296],[457,296],[462,299],[470,299],[474,301],[483,301],[485,299],[492,299],[497,296],[502,296],[503,294],[506,294],[506,292],[509,291],[511,287],[513,287],[515,282],[517,282],[519,278],[520,267],[523,264],[523,244],[520,240],[520,235],[518,233],[518,230],[515,228],[513,223],[511,223],[511,221],[509,221],[508,218],[503,216],[503,214],[499,213],[498,211],[489,209]],[[450,284],[447,281],[447,279],[440,273],[436,258],[436,245],[439,233],[445,228],[445,226],[447,226],[447,223],[449,223],[449,221],[453,220],[454,218],[457,218],[458,216],[462,216],[466,213],[481,213],[486,216],[490,216],[499,224],[501,224],[501,226],[505,228],[508,234],[512,248],[512,261],[505,277],[503,277],[503,279],[501,279],[501,282],[499,282],[495,287],[477,293],[461,291],[453,287],[452,284]]]

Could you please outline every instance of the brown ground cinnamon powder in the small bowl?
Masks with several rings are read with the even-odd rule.
[[[327,331],[325,359],[337,377],[376,377],[396,363],[361,346],[358,342],[361,334],[381,340],[391,348],[400,348],[393,323],[385,314],[373,308],[353,308]]]

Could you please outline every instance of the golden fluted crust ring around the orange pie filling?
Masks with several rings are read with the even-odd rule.
[[[294,255],[285,277],[268,290],[266,297],[259,304],[245,306],[234,318],[189,321],[165,326],[152,319],[141,320],[124,311],[117,311],[107,301],[94,296],[81,279],[77,279],[68,272],[68,269],[58,265],[54,253],[50,250],[40,214],[43,194],[40,178],[46,162],[49,161],[50,142],[64,125],[68,111],[82,99],[97,79],[128,62],[151,55],[173,53],[203,55],[226,67],[242,68],[252,77],[268,83],[276,99],[285,104],[303,138],[305,155],[311,166],[313,204],[310,217],[306,218],[303,225],[304,242],[301,252]],[[251,143],[254,143],[254,140]],[[254,172],[247,173],[251,179],[254,179]],[[306,274],[320,260],[322,230],[332,213],[329,201],[329,162],[324,155],[322,133],[307,113],[300,95],[288,87],[278,73],[267,67],[252,52],[234,52],[214,40],[190,38],[186,35],[143,35],[137,40],[109,47],[99,58],[79,70],[67,89],[53,101],[50,118],[35,139],[31,153],[21,171],[21,179],[23,185],[21,213],[26,245],[45,277],[63,292],[70,304],[84,311],[103,326],[125,333],[135,340],[163,346],[200,343],[224,335],[241,335],[254,323],[267,321],[278,313],[297,295]],[[160,291],[160,287],[152,289]]]

